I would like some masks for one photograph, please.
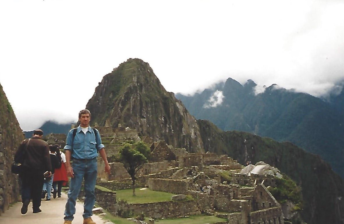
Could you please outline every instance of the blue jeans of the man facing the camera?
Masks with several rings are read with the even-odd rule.
[[[81,184],[84,181],[85,201],[84,201],[84,219],[92,216],[92,209],[96,201],[94,189],[97,179],[97,158],[94,159],[73,159],[72,164],[74,178],[69,183],[68,199],[64,220],[73,220],[75,214],[76,198],[80,192]]]

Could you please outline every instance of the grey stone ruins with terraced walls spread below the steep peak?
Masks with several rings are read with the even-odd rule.
[[[160,219],[215,214],[219,211],[221,214],[217,216],[228,220],[223,223],[283,223],[281,205],[267,189],[268,186],[276,186],[274,176],[240,173],[244,166],[227,155],[188,153],[163,141],[153,142],[147,136],[140,138],[137,131],[130,128],[112,130],[111,125],[96,128],[109,157],[119,152],[123,142],[142,140],[150,144],[152,159],[137,172],[136,187],[191,195],[193,198],[187,201],[119,205],[115,191],[130,189],[131,178],[121,163],[110,163],[112,172],[108,175],[104,172],[103,161],[99,159],[97,185],[109,191],[97,190],[96,197],[98,204],[111,214],[118,215],[120,210],[127,209],[134,214]],[[54,141],[60,143],[57,138]]]

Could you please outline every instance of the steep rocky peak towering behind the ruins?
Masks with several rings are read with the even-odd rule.
[[[86,108],[100,126],[109,120],[113,128],[121,124],[190,152],[203,150],[195,118],[140,59],[128,59],[104,76]]]

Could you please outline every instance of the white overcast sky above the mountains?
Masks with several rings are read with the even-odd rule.
[[[231,77],[321,96],[344,80],[343,12],[331,0],[1,0],[0,83],[25,131],[76,121],[128,58],[174,93]]]

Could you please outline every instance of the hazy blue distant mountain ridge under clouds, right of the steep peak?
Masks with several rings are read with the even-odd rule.
[[[275,84],[256,95],[255,86],[252,80],[241,85],[228,78],[213,89],[193,96],[176,94],[176,98],[197,119],[209,120],[224,131],[245,131],[292,142],[320,155],[344,177],[344,93],[325,102]],[[209,99],[219,92],[222,102],[207,106]]]

